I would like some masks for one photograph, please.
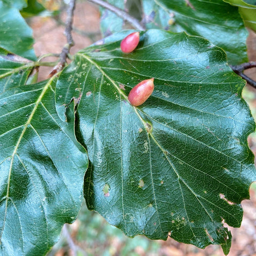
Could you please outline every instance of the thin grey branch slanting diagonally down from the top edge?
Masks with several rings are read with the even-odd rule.
[[[114,5],[111,5],[103,0],[89,0],[89,2],[92,2],[94,4],[98,4],[106,9],[108,9],[111,12],[114,12],[117,16],[121,17],[122,19],[128,21],[129,23],[131,23],[131,25],[138,29],[138,30],[145,30],[145,27],[143,27],[140,22],[135,19],[134,17],[132,17],[129,13],[117,8]]]

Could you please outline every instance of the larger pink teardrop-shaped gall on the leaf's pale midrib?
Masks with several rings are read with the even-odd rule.
[[[131,105],[138,107],[149,98],[153,91],[154,78],[143,80],[133,87],[128,95],[128,100]]]

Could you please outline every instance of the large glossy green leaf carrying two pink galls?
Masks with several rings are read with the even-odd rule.
[[[256,179],[245,83],[204,38],[148,30],[124,54],[119,46],[130,33],[78,52],[56,86],[61,119],[77,99],[76,135],[90,159],[87,206],[127,236],[166,239],[171,232],[201,248],[221,244],[227,254],[223,222],[241,225],[240,203]],[[131,106],[129,91],[151,77],[153,94]]]

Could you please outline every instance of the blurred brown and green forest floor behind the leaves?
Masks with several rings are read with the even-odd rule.
[[[34,30],[35,50],[37,55],[46,53],[60,53],[66,43],[63,34],[65,15],[60,15],[59,20],[53,18],[32,18],[30,26]],[[62,21],[62,22],[61,22]],[[74,15],[73,38],[75,46],[71,54],[94,43],[101,38],[100,14],[98,7],[87,3],[77,3]],[[256,61],[256,35],[251,33],[247,41],[249,60]],[[56,60],[53,57],[45,61]],[[256,69],[246,70],[245,74],[256,80]],[[45,79],[51,68],[40,70],[39,80]],[[246,86],[243,97],[249,103],[254,119],[256,119],[256,89]],[[249,145],[256,154],[256,133],[251,134]],[[251,200],[242,202],[244,217],[241,228],[230,228],[233,241],[229,256],[256,256],[256,184],[251,186]],[[175,242],[169,238],[167,241],[151,241],[146,237],[137,236],[127,238],[121,230],[110,226],[98,213],[88,211],[85,203],[73,225],[66,226],[66,231],[74,244],[70,244],[70,237],[63,232],[49,256],[84,256],[84,255],[145,255],[145,256],[222,256],[221,247],[210,245],[205,250],[193,245]]]

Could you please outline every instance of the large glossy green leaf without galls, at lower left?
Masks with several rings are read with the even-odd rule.
[[[54,81],[12,79],[0,94],[0,255],[45,255],[77,217],[87,154],[72,137],[72,104],[73,125],[58,117]]]

